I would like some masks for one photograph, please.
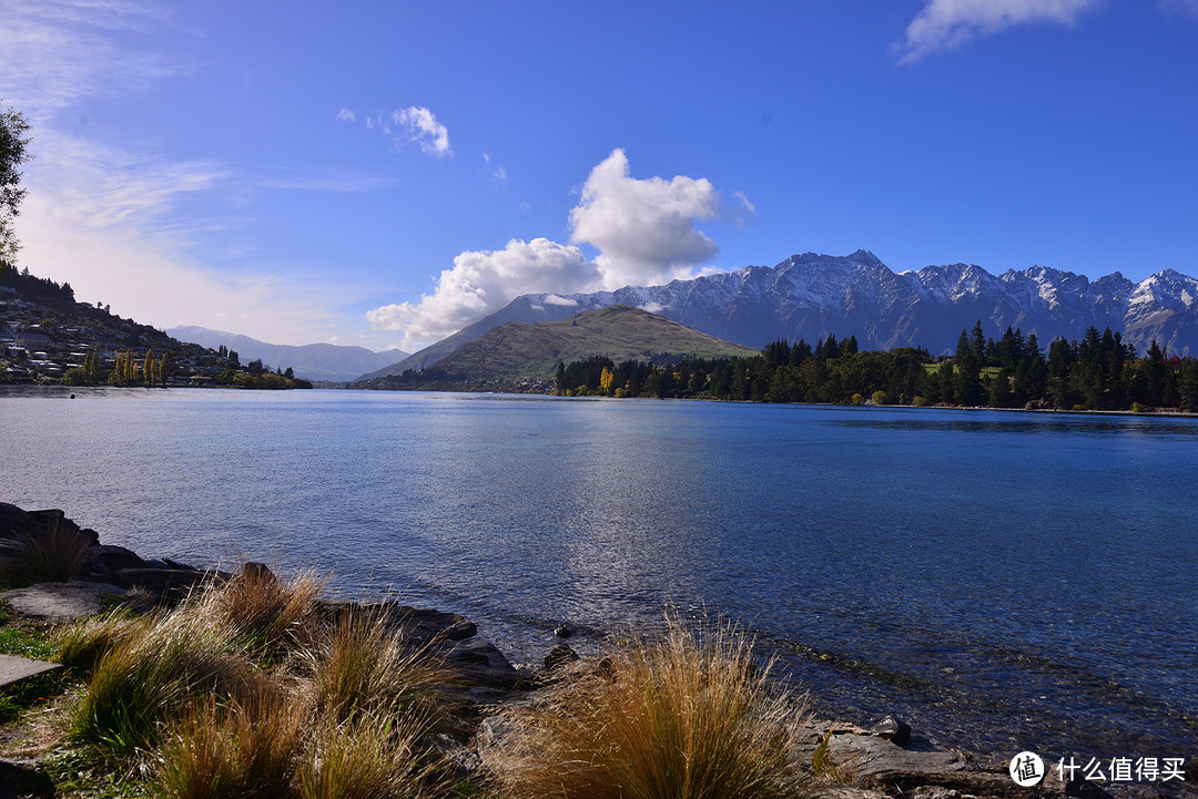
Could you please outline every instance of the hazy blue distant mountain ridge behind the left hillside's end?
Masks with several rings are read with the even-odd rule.
[[[407,358],[407,353],[397,349],[376,353],[365,347],[341,344],[271,344],[249,336],[196,325],[171,328],[167,334],[180,341],[213,349],[224,344],[237,352],[242,364],[261,359],[271,366],[291,366],[297,377],[332,383],[352,380],[363,372]]]

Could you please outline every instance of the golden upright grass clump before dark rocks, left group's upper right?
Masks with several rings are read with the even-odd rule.
[[[448,676],[386,612],[341,614],[305,653],[313,703],[339,721],[362,713],[431,716]]]

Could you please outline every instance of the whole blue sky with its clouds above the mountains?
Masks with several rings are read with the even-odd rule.
[[[1198,0],[0,0],[22,264],[278,343],[872,250],[1198,272]]]

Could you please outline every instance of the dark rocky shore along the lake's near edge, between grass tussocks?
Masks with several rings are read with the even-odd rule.
[[[114,604],[151,610],[179,602],[205,581],[237,578],[169,559],[147,560],[123,547],[102,544],[98,533],[80,529],[62,511],[24,511],[0,502],[0,565],[16,562],[23,549],[52,535],[81,537],[86,545],[68,575],[0,593],[10,614],[56,622],[91,616]],[[246,563],[241,573],[253,573],[255,578],[270,575],[261,563]],[[10,572],[8,583],[30,581],[19,578]],[[386,614],[403,624],[411,640],[428,646],[444,663],[453,675],[449,694],[458,722],[452,733],[440,736],[438,748],[462,779],[485,775],[489,751],[507,732],[500,715],[503,708],[534,703],[545,684],[601,667],[601,661],[588,661],[575,653],[567,641],[568,629],[559,630],[562,640],[545,653],[541,669],[518,669],[479,635],[473,622],[456,614],[412,608],[393,599],[375,603],[323,600],[321,604],[331,614],[349,608]],[[48,754],[4,760],[5,752],[0,751],[0,786],[41,786],[32,792],[23,789],[24,793],[6,793],[0,787],[0,799],[54,795],[44,775],[38,781],[38,760]],[[846,799],[1111,795],[1103,791],[1106,786],[1094,782],[1063,783],[1055,779],[1051,766],[1046,766],[1049,774],[1039,786],[1018,787],[1008,774],[1008,763],[976,762],[961,752],[937,751],[920,738],[919,731],[890,716],[873,728],[807,719],[793,760],[817,774],[821,780],[817,793]],[[1178,786],[1179,792],[1164,793],[1194,795],[1186,793],[1191,785],[1184,782]],[[1162,793],[1160,786],[1127,786],[1126,792],[1136,795]]]

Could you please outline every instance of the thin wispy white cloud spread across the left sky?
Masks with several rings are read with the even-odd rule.
[[[188,255],[199,236],[243,224],[177,216],[188,197],[228,197],[260,184],[214,160],[171,159],[147,142],[109,144],[79,124],[80,108],[95,97],[135,97],[192,71],[170,48],[181,31],[167,14],[129,0],[0,0],[0,98],[34,123],[37,155],[24,170],[29,195],[16,220],[23,266],[69,282],[80,300],[162,328],[228,318],[237,333],[309,343],[322,324],[364,327],[361,316],[337,310],[365,293],[344,277],[224,275]],[[157,51],[140,49],[146,42]],[[334,177],[310,188],[367,187]]]

